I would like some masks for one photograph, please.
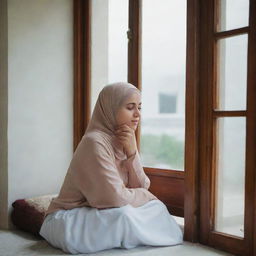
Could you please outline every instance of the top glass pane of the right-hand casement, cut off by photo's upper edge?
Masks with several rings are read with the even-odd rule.
[[[219,0],[218,31],[248,26],[249,0]]]

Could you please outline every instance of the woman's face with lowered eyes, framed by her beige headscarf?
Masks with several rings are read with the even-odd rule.
[[[127,124],[134,131],[137,129],[140,120],[141,96],[133,93],[128,97],[116,114],[117,125]]]

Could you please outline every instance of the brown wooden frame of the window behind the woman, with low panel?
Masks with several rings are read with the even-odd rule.
[[[128,82],[141,89],[141,0],[129,0]],[[185,217],[184,238],[198,238],[199,0],[187,0],[186,127],[183,171],[144,168],[150,191],[173,215]],[[74,150],[90,120],[90,0],[74,0]],[[140,126],[136,130],[140,138]],[[185,206],[185,210],[184,210]]]

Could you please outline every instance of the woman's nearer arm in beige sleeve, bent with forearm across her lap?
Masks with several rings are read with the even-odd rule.
[[[108,147],[92,139],[86,140],[90,150],[74,168],[74,182],[92,207],[110,208],[131,204],[134,207],[157,199],[145,188],[127,188]],[[74,161],[76,162],[76,161]]]

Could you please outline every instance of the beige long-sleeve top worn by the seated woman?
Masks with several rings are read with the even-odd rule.
[[[50,203],[46,215],[83,206],[139,207],[157,199],[148,191],[149,186],[138,151],[128,159],[119,159],[113,143],[92,132],[79,143],[60,193]]]

